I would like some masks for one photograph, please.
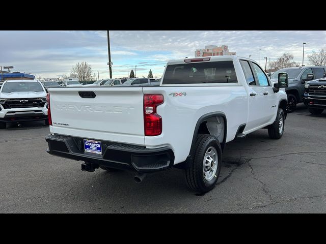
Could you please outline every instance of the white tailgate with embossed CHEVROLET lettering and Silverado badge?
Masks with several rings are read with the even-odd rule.
[[[71,87],[48,91],[51,133],[145,145],[142,87]],[[88,96],[92,92],[94,98]]]

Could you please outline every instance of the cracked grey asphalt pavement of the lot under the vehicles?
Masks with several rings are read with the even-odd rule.
[[[149,174],[80,170],[46,153],[43,121],[0,130],[2,213],[310,213],[326,212],[326,112],[304,104],[288,114],[280,140],[261,129],[226,144],[216,187],[188,190],[173,168]]]

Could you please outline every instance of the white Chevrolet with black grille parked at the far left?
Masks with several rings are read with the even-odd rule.
[[[6,80],[0,89],[0,129],[7,122],[47,119],[45,88],[38,80]]]

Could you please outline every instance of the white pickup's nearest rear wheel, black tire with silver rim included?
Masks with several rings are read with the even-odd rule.
[[[212,190],[221,171],[222,149],[218,138],[199,134],[191,166],[185,170],[186,183],[190,189],[205,193]]]

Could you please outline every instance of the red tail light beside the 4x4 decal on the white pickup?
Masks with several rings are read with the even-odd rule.
[[[161,94],[144,95],[144,129],[145,136],[158,136],[162,133],[162,117],[156,113],[158,105],[164,103]]]

